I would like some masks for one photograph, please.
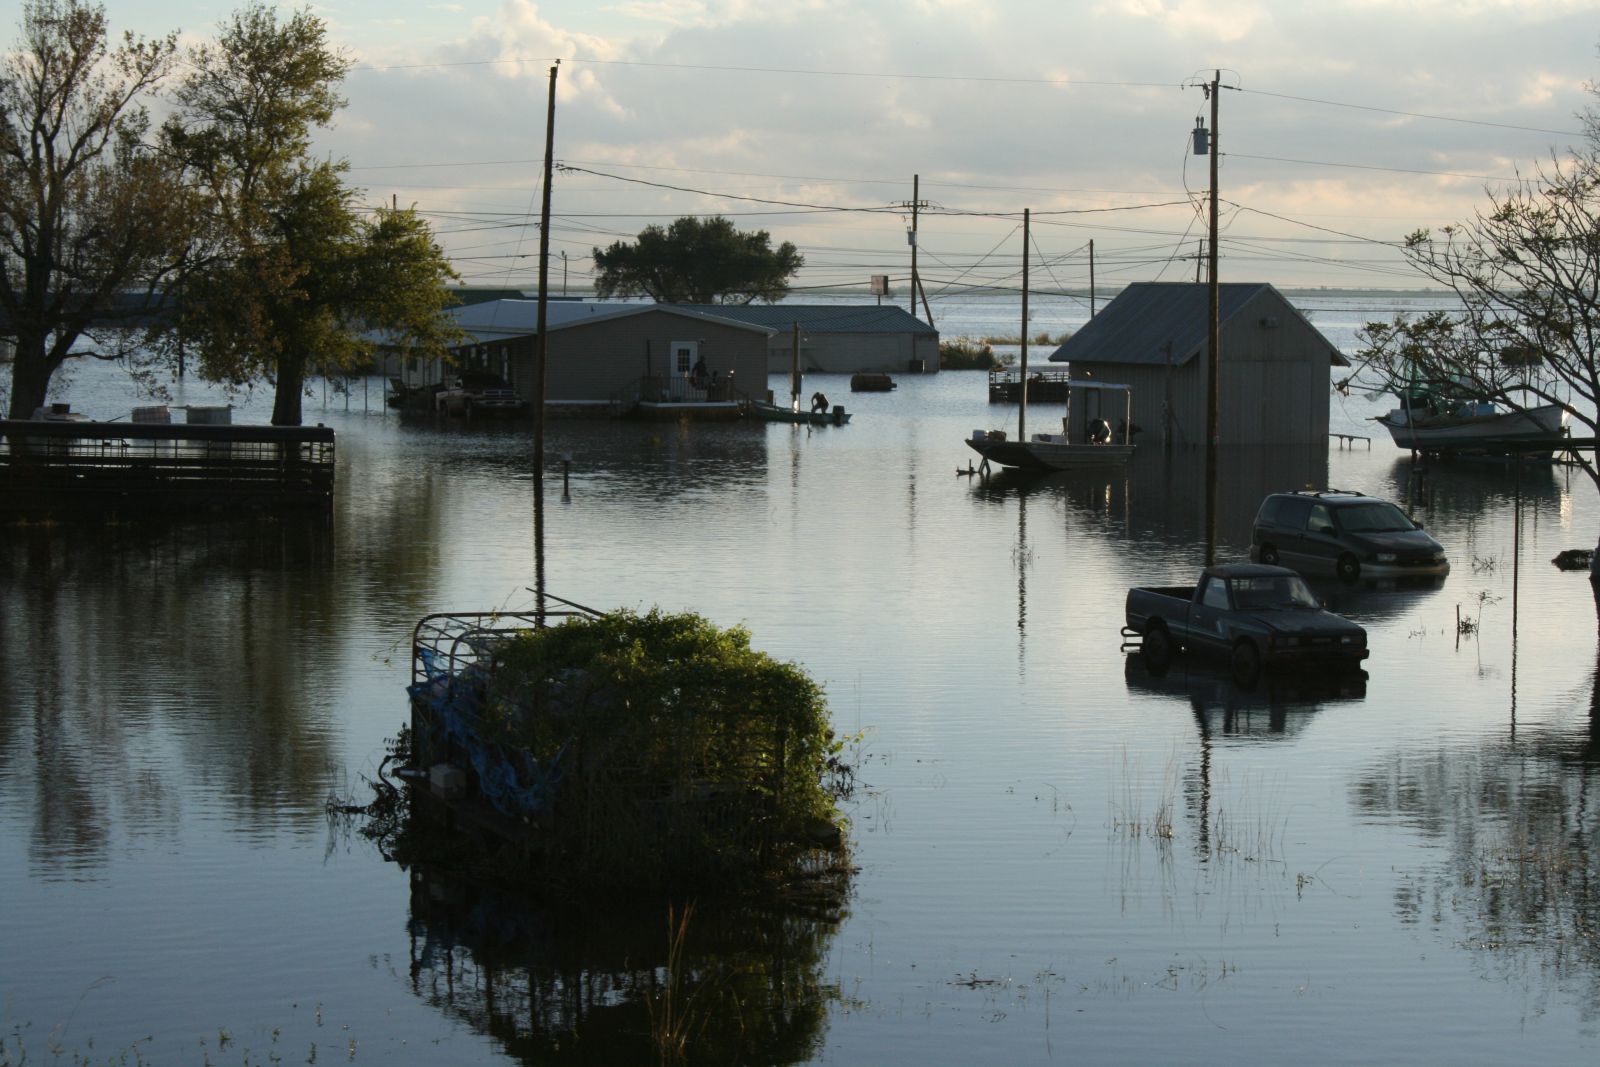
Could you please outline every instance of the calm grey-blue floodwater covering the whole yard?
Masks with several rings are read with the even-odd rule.
[[[850,426],[554,422],[546,566],[826,685],[862,734],[842,915],[701,904],[672,984],[664,912],[403,870],[325,814],[406,717],[411,625],[533,603],[525,429],[358,382],[306,411],[331,523],[0,534],[0,1064],[656,1062],[669,990],[693,1062],[1595,1057],[1597,605],[1549,563],[1595,542],[1586,478],[1224,456],[1218,558],[1314,480],[1453,563],[1318,582],[1368,677],[1246,689],[1120,648],[1128,585],[1205,560],[1198,456],[984,483],[962,438],[1014,410],[981,374],[813,381]],[[66,395],[131,405],[115,368]],[[1334,397],[1334,429],[1381,406]]]

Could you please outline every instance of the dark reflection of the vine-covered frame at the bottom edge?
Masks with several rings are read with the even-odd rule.
[[[533,907],[411,875],[408,984],[523,1064],[797,1064],[822,1049],[842,915]],[[682,1045],[678,1045],[682,1041]],[[680,1049],[680,1051],[678,1051]]]

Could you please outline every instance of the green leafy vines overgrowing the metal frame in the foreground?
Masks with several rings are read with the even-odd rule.
[[[562,768],[546,854],[578,886],[754,888],[837,845],[822,689],[742,627],[653,609],[530,630],[496,648],[480,729]]]

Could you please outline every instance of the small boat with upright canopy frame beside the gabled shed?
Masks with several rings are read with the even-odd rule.
[[[973,430],[966,446],[982,456],[984,464],[1002,467],[1080,470],[1125,464],[1134,450],[1131,403],[1126,386],[1075,379],[1067,382],[1061,434],[1011,440],[1005,430]]]

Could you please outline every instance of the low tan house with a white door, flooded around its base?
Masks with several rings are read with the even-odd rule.
[[[469,373],[504,379],[533,400],[538,350],[536,299],[496,299],[451,309],[470,341],[451,349],[451,363],[408,360],[398,374],[408,389]],[[726,408],[766,395],[763,326],[710,310],[667,304],[549,301],[546,304],[544,397],[550,408],[634,410],[693,405]]]

